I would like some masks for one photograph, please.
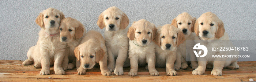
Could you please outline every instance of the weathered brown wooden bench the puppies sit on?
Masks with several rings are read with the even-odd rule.
[[[159,76],[151,76],[148,70],[139,67],[138,76],[128,75],[130,68],[124,68],[124,75],[103,76],[99,68],[87,70],[85,75],[77,75],[76,69],[66,70],[66,75],[54,74],[53,67],[50,67],[50,75],[39,75],[41,69],[36,69],[33,65],[23,66],[23,61],[0,60],[0,81],[100,81],[100,82],[119,82],[119,81],[249,81],[256,80],[256,61],[238,62],[239,69],[223,69],[222,76],[213,76],[212,69],[206,69],[204,75],[192,75],[191,67],[186,70],[177,70],[177,76],[167,76],[165,68],[157,68]],[[113,74],[113,72],[112,72]]]

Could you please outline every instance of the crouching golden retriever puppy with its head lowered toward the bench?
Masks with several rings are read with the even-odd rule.
[[[96,63],[99,63],[102,75],[111,75],[108,69],[108,54],[104,38],[101,33],[91,30],[79,46],[74,50],[75,56],[80,60],[80,67],[77,69],[78,74],[86,73],[86,69],[91,69]]]

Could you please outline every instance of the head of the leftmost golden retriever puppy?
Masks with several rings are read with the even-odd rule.
[[[60,21],[65,16],[62,12],[54,8],[48,8],[41,12],[35,22],[44,29],[59,29]]]

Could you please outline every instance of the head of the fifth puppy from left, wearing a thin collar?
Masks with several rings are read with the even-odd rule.
[[[157,28],[155,25],[147,20],[139,20],[133,22],[129,28],[127,36],[130,40],[136,39],[138,45],[145,46],[150,44],[151,41],[158,43]]]

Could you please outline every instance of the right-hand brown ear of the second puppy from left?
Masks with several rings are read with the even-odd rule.
[[[78,27],[76,27],[76,32],[75,32],[75,35],[74,35],[74,39],[79,39],[83,36],[83,31],[84,31],[84,26],[83,24],[79,23]]]

